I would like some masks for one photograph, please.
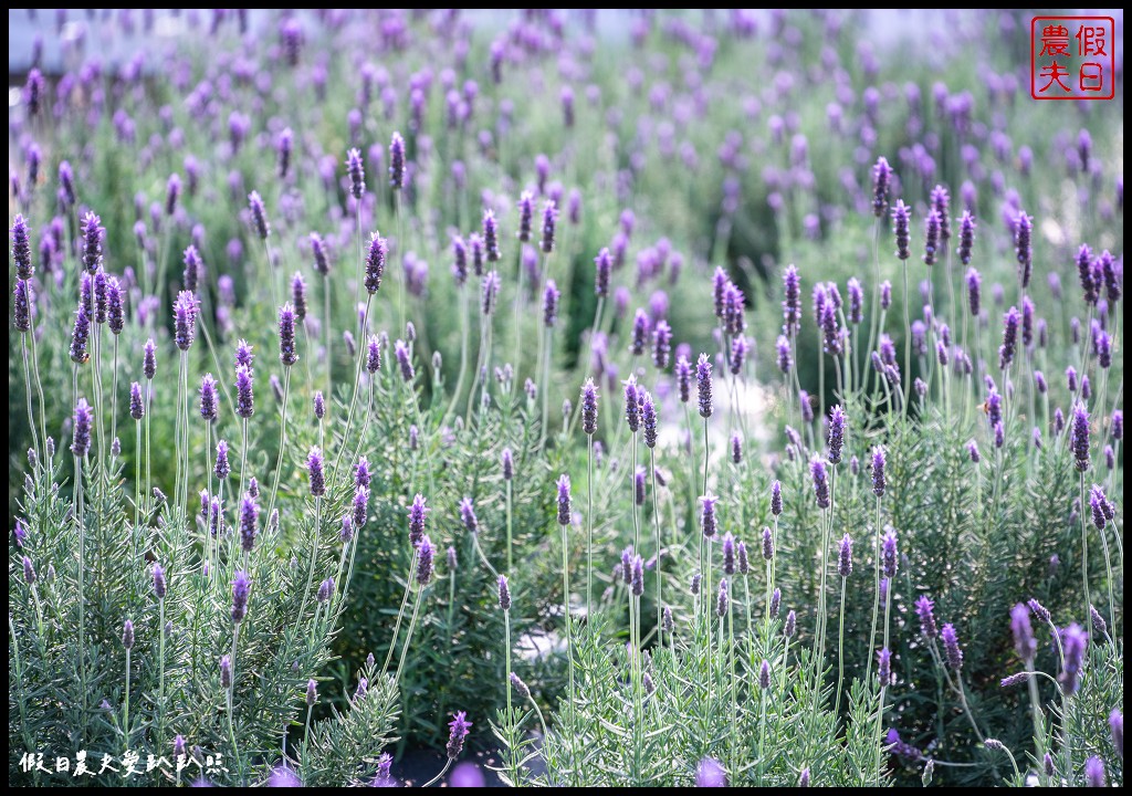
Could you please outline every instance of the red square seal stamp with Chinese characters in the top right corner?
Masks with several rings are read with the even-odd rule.
[[[1116,96],[1116,23],[1112,17],[1034,17],[1030,96],[1112,100]]]

